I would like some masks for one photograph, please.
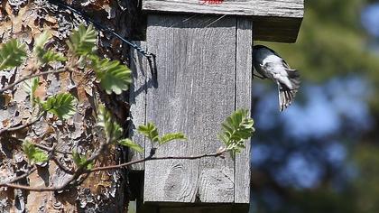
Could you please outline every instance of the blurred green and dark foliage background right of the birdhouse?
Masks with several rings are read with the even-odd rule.
[[[362,9],[371,3],[377,1],[305,1],[305,16],[296,43],[254,43],[279,52],[291,67],[300,69],[305,82],[317,84],[355,74],[366,79],[374,89],[372,98],[366,100],[374,128],[360,135],[357,141],[345,144],[346,163],[356,166],[356,178],[345,189],[333,189],[329,182],[310,190],[284,189],[284,204],[273,212],[379,212],[379,98],[375,95],[379,94],[379,54],[370,51],[369,42],[374,38],[360,23]],[[297,101],[303,100],[300,97]],[[257,203],[252,212],[272,212],[264,207],[262,200]]]

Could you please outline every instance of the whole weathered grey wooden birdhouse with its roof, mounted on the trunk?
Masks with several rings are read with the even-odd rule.
[[[143,0],[147,32],[139,44],[155,58],[151,66],[131,52],[134,126],[153,122],[163,134],[188,136],[155,156],[215,153],[226,116],[251,108],[253,41],[295,42],[303,9],[303,0]],[[131,134],[145,153],[130,160],[148,156],[151,144],[135,129]],[[137,213],[248,211],[250,142],[236,159],[160,160],[131,169],[141,183]]]

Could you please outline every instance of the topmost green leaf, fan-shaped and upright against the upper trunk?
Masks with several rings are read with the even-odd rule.
[[[74,30],[69,36],[70,51],[76,55],[86,56],[96,51],[97,32],[92,25],[88,28],[84,24],[80,24],[77,30]]]

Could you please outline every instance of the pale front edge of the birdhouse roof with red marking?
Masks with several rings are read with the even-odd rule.
[[[304,14],[304,0],[224,0],[220,1],[220,4],[208,4],[208,2],[210,1],[143,0],[143,10],[292,18],[302,18]]]

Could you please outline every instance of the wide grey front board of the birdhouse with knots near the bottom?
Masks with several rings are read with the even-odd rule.
[[[236,17],[148,15],[147,42],[157,76],[147,92],[147,119],[161,133],[183,132],[188,142],[162,145],[156,156],[214,153],[220,123],[234,111]],[[146,143],[146,151],[149,151]],[[233,202],[229,158],[145,163],[145,202]]]

